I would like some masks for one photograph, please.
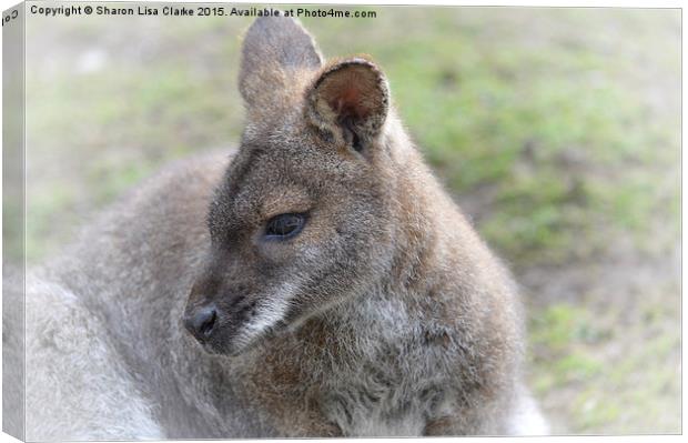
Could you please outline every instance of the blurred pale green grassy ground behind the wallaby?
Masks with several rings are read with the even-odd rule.
[[[351,9],[353,10],[353,9]],[[680,431],[680,11],[367,8],[304,19],[368,53],[522,284],[555,433]],[[32,18],[30,263],[165,162],[232,145],[239,18]]]

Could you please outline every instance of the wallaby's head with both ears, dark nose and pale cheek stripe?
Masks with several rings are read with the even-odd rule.
[[[363,293],[388,273],[394,244],[381,70],[363,57],[324,64],[296,21],[260,18],[239,83],[247,121],[210,207],[211,251],[184,314],[221,354]]]

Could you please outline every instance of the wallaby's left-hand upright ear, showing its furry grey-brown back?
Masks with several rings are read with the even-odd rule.
[[[295,73],[321,64],[313,38],[295,19],[260,17],[244,38],[239,89],[250,107],[269,104],[294,83]]]

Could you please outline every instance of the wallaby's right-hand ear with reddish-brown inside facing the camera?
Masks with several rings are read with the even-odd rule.
[[[306,119],[325,137],[356,151],[380,134],[388,108],[385,75],[363,58],[330,64],[306,92]]]

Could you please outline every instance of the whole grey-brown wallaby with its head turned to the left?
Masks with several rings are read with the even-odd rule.
[[[239,84],[231,159],[164,170],[28,279],[27,439],[544,433],[515,285],[381,69],[259,18]]]

